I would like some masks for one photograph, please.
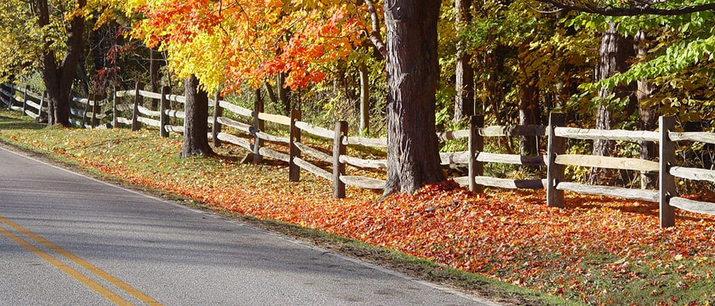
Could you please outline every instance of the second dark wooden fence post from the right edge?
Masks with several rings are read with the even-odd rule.
[[[566,167],[556,164],[556,155],[566,153],[566,140],[556,137],[556,127],[566,123],[563,113],[550,113],[548,116],[548,153],[546,173],[546,205],[563,208],[563,190],[557,190],[556,185],[564,179]]]

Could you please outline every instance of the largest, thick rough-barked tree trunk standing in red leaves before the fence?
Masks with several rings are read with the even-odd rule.
[[[388,178],[385,195],[445,180],[435,133],[440,1],[385,1]]]

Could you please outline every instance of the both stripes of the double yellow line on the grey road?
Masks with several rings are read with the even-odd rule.
[[[39,243],[40,245],[44,245],[45,248],[48,248],[49,250],[52,250],[54,253],[57,253],[65,258],[71,260],[72,262],[76,263],[80,267],[83,267],[84,269],[88,270],[89,272],[94,273],[94,275],[102,277],[102,279],[106,280],[107,282],[114,285],[115,287],[118,287],[119,289],[124,290],[124,292],[129,293],[129,295],[136,297],[138,300],[144,302],[145,304],[147,304],[147,305],[162,305],[161,303],[154,300],[152,297],[149,297],[149,295],[144,294],[144,292],[137,290],[136,288],[132,287],[131,285],[127,284],[126,282],[122,282],[122,280],[119,280],[117,277],[114,277],[113,275],[105,272],[104,270],[99,269],[99,267],[96,267],[96,266],[92,265],[91,263],[87,262],[86,260],[83,260],[82,258],[77,257],[77,255],[69,253],[67,250],[60,248],[58,245],[55,245],[54,243],[49,242],[49,240],[46,240],[45,238],[42,238],[35,233],[32,233],[30,230],[27,230],[26,228],[21,227],[19,224],[14,223],[11,220],[8,220],[7,218],[4,218],[1,215],[0,215],[0,223],[4,223],[5,225],[9,226],[10,228],[16,230],[18,233],[25,235],[26,237],[30,238],[31,240],[34,240],[36,243]],[[67,275],[74,277],[75,280],[82,282],[82,284],[87,286],[89,289],[94,290],[95,292],[99,293],[103,297],[107,298],[107,300],[114,302],[114,304],[116,304],[116,305],[132,305],[131,302],[124,300],[124,298],[122,298],[119,295],[117,295],[116,293],[112,292],[112,290],[107,289],[107,287],[104,287],[103,285],[99,284],[98,282],[95,282],[94,280],[90,279],[89,277],[83,275],[82,272],[79,272],[78,270],[75,270],[72,267],[65,265],[64,262],[61,262],[60,260],[58,260],[54,256],[50,255],[49,253],[45,252],[44,250],[37,248],[35,245],[29,243],[27,240],[24,240],[20,236],[15,235],[14,233],[11,233],[9,230],[6,230],[2,226],[0,226],[0,234],[9,238],[14,243],[20,245],[21,247],[26,248],[31,253],[34,253],[34,255],[37,255],[37,257],[40,257],[43,260],[45,260],[46,262],[49,262],[51,265],[54,265],[62,272],[65,272]]]

